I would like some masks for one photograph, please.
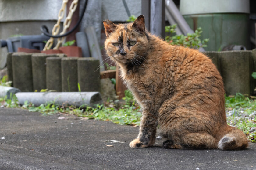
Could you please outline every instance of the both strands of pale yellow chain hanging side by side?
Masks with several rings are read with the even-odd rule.
[[[55,36],[59,33],[59,29],[60,29],[60,22],[61,20],[64,18],[64,14],[65,14],[65,9],[66,9],[66,6],[67,6],[67,3],[68,3],[68,0],[63,0],[62,1],[62,5],[61,5],[61,9],[59,10],[59,14],[58,14],[58,21],[57,23],[53,26],[53,29],[52,29],[52,35]],[[63,31],[60,33],[60,35],[64,34],[67,29],[69,28],[70,24],[71,24],[71,18],[72,18],[72,15],[73,13],[76,11],[76,7],[77,7],[77,3],[78,3],[78,0],[73,0],[73,2],[71,3],[70,7],[69,7],[69,14],[68,16],[66,17],[64,23],[63,23]],[[58,38],[58,42],[57,42],[57,45],[53,48],[53,49],[59,49],[60,45],[62,44],[62,42],[64,41],[64,38],[65,37],[62,37],[62,38]],[[53,40],[54,38],[51,37],[47,43],[45,44],[44,46],[44,49],[43,51],[45,50],[49,50],[51,49],[52,45],[53,45]]]

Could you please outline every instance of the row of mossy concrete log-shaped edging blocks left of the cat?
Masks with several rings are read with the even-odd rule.
[[[7,74],[22,92],[41,89],[57,92],[100,91],[99,60],[63,54],[8,53]]]

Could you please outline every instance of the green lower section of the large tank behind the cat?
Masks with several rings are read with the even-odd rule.
[[[191,29],[202,27],[201,40],[209,38],[206,51],[219,51],[228,45],[250,47],[249,14],[215,13],[183,15]]]

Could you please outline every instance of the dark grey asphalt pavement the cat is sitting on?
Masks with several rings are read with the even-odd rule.
[[[152,147],[132,149],[129,142],[138,130],[73,115],[0,108],[0,169],[256,170],[255,143],[240,151],[179,150],[164,149],[164,140],[158,140]]]

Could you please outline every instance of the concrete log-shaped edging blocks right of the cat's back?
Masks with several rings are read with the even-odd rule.
[[[250,95],[254,92],[256,80],[251,74],[256,71],[256,49],[204,53],[218,68],[224,81],[226,96],[238,92]]]

